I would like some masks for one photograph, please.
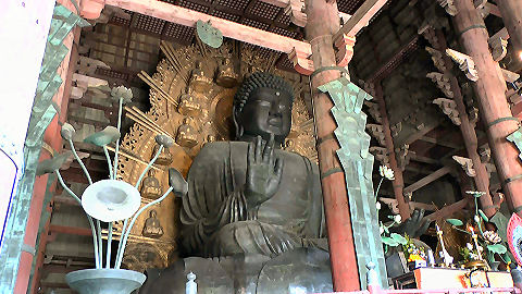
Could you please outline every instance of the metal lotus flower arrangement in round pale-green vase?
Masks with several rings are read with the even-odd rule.
[[[154,201],[147,204],[139,208],[141,204],[141,195],[138,191],[139,184],[144,180],[148,170],[152,167],[154,161],[160,156],[163,148],[169,148],[174,144],[174,140],[165,135],[157,135],[156,140],[160,145],[157,154],[152,160],[147,164],[141,172],[136,185],[130,185],[121,180],[116,180],[117,172],[117,152],[120,147],[120,128],[122,120],[122,107],[132,100],[133,93],[123,86],[113,88],[111,96],[115,98],[120,103],[117,127],[108,126],[103,131],[95,133],[84,142],[97,145],[103,148],[109,164],[109,180],[102,180],[92,183],[92,180],[87,171],[87,168],[78,157],[73,144],[73,136],[75,133],[74,127],[71,124],[65,123],[62,126],[61,135],[64,140],[71,146],[71,151],[65,151],[61,155],[54,156],[52,159],[40,162],[38,166],[37,174],[55,173],[58,181],[76,201],[78,201],[84,208],[87,219],[92,231],[92,245],[95,252],[95,269],[78,270],[69,273],[65,277],[69,285],[79,292],[80,294],[129,294],[134,290],[141,286],[145,282],[145,274],[120,269],[123,260],[123,254],[127,243],[130,229],[133,228],[136,219],[147,208],[165,199],[171,192],[177,195],[184,195],[187,193],[188,185],[183,179],[182,174],[175,170],[169,170],[169,189]],[[115,155],[114,161],[111,160],[107,146],[115,142]],[[78,161],[82,170],[84,171],[89,186],[82,195],[82,199],[64,183],[62,175],[60,174],[60,167],[71,157]],[[116,260],[114,267],[111,268],[111,242],[112,242],[112,225],[114,221],[124,221],[122,228],[122,235],[116,252]],[[103,262],[103,247],[101,237],[101,221],[108,223],[109,234],[107,240],[107,253],[105,261]]]

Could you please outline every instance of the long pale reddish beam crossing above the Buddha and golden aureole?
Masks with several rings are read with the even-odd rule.
[[[312,54],[310,44],[308,42],[211,16],[206,13],[173,5],[166,2],[156,0],[105,0],[105,4],[189,27],[195,27],[198,21],[210,21],[213,27],[223,33],[224,37],[285,53],[290,53],[295,49],[297,52],[300,52],[303,56]]]

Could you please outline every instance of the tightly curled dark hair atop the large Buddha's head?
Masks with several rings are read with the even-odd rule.
[[[243,81],[241,86],[234,96],[234,108],[237,112],[241,112],[243,107],[250,98],[250,95],[252,95],[258,88],[271,88],[284,91],[290,97],[291,102],[294,102],[294,88],[290,84],[281,76],[256,72]]]

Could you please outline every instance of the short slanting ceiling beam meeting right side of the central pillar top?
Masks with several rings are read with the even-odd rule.
[[[388,0],[366,0],[362,5],[351,15],[346,24],[334,35],[334,40],[343,35],[355,37],[359,30],[365,27],[370,20],[375,15]]]

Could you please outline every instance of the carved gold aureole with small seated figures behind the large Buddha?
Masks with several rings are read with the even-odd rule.
[[[169,168],[175,168],[186,176],[194,157],[206,143],[233,138],[234,94],[244,76],[256,71],[272,72],[293,84],[296,96],[293,126],[283,148],[318,160],[313,121],[303,98],[307,82],[298,74],[275,69],[276,54],[262,58],[259,50],[237,42],[225,42],[219,49],[199,42],[179,48],[162,42],[161,50],[166,58],[158,64],[157,73],[152,76],[145,72],[139,74],[151,87],[151,109],[144,113],[137,108],[126,108],[126,117],[135,124],[122,142],[117,173],[125,182],[135,184],[145,162],[153,157],[154,136],[167,134],[175,139],[176,145],[160,155],[151,173],[159,181],[161,193],[156,193],[157,187],[139,187],[142,205],[166,191]],[[149,179],[144,183],[153,185],[158,181]],[[149,211],[141,213],[129,235],[123,261],[126,268],[138,271],[164,268],[177,258],[179,204],[181,199],[171,195],[151,208],[158,212],[157,219],[163,230],[163,234],[156,238],[144,236],[142,232],[147,231],[147,223],[158,222],[147,222]],[[116,235],[122,225],[115,225]]]

